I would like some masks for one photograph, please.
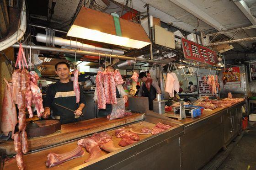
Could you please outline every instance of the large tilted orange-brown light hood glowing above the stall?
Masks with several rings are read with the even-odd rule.
[[[129,48],[143,48],[151,43],[140,24],[122,18],[115,22],[113,17],[82,7],[67,35]],[[119,36],[116,27],[120,29]]]

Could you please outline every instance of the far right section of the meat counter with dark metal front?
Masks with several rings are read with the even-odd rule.
[[[199,117],[177,120],[184,126],[181,137],[181,169],[197,170],[240,133],[245,101],[230,107],[203,111]],[[167,112],[164,115],[173,114]],[[168,117],[169,118],[169,117]],[[170,118],[174,119],[174,118]]]

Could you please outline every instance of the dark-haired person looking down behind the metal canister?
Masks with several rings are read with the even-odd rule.
[[[155,80],[152,80],[152,84],[150,85],[150,89],[148,90],[145,82],[148,77],[145,72],[139,73],[139,79],[143,82],[143,84],[139,88],[138,96],[148,97],[149,98],[149,110],[153,110],[153,100],[156,98],[157,93],[161,93],[160,87]]]

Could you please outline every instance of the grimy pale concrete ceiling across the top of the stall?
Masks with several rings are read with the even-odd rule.
[[[126,5],[127,2],[127,0],[115,1],[122,5]],[[50,26],[68,30],[79,4],[89,7],[91,0],[48,0],[46,3],[49,4],[49,8],[52,2],[56,5],[51,18],[53,24]],[[149,4],[150,15],[186,32],[194,33],[197,29],[200,32],[212,33],[251,26],[254,21],[256,24],[256,0],[128,0],[127,7],[133,7],[145,14],[145,4]],[[92,9],[107,13],[117,11],[123,13],[125,10],[122,9],[122,5],[118,7],[112,0],[95,0]],[[34,7],[39,8],[38,6]],[[45,10],[48,11],[48,9]],[[45,17],[43,20],[47,20],[47,16],[37,16],[36,14],[34,16],[39,19]],[[256,36],[256,29],[245,32],[239,32],[234,39]],[[225,36],[230,38],[233,33],[225,34]],[[220,38],[223,36],[219,36]],[[242,42],[234,44],[234,47],[239,51],[246,51],[252,48],[252,43]]]

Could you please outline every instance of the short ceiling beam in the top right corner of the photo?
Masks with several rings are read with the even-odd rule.
[[[252,15],[251,9],[245,3],[244,0],[233,0],[235,5],[245,14],[248,20],[251,21],[252,25],[256,25],[256,18]]]

